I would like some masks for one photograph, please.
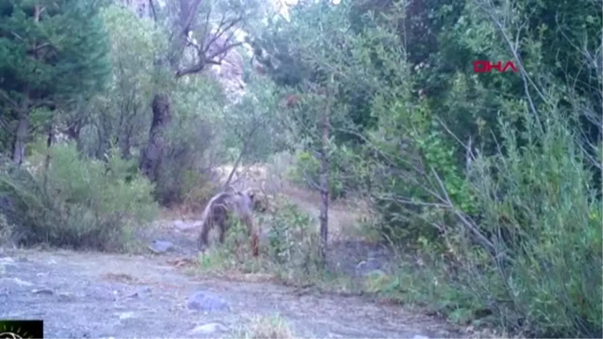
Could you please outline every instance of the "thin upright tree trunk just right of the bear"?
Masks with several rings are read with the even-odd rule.
[[[320,256],[326,258],[327,239],[329,236],[329,116],[323,118],[323,149],[320,159]]]

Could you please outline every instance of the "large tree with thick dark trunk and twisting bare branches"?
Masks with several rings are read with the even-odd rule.
[[[242,42],[236,31],[250,29],[262,12],[256,0],[176,0],[165,5],[150,1],[152,16],[170,37],[169,48],[158,56],[158,71],[171,72],[174,81],[192,77],[212,65],[221,65],[226,55]],[[157,88],[151,100],[153,119],[147,147],[140,156],[140,170],[156,182],[165,156],[166,131],[172,124],[172,95]]]

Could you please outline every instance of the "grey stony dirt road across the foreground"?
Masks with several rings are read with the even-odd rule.
[[[352,297],[183,273],[166,256],[0,252],[0,318],[43,318],[46,338],[223,338],[280,314],[304,338],[461,338],[434,319]]]

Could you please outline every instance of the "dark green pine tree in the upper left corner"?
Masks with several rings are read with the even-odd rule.
[[[0,4],[0,112],[16,121],[22,162],[35,107],[90,95],[106,83],[109,39],[96,0],[5,0]]]

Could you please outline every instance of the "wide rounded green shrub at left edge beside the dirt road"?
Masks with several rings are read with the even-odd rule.
[[[122,249],[134,226],[156,216],[153,186],[132,174],[131,161],[113,149],[107,162],[80,157],[75,146],[49,150],[47,171],[31,176],[6,163],[0,171],[0,205],[22,244]]]

